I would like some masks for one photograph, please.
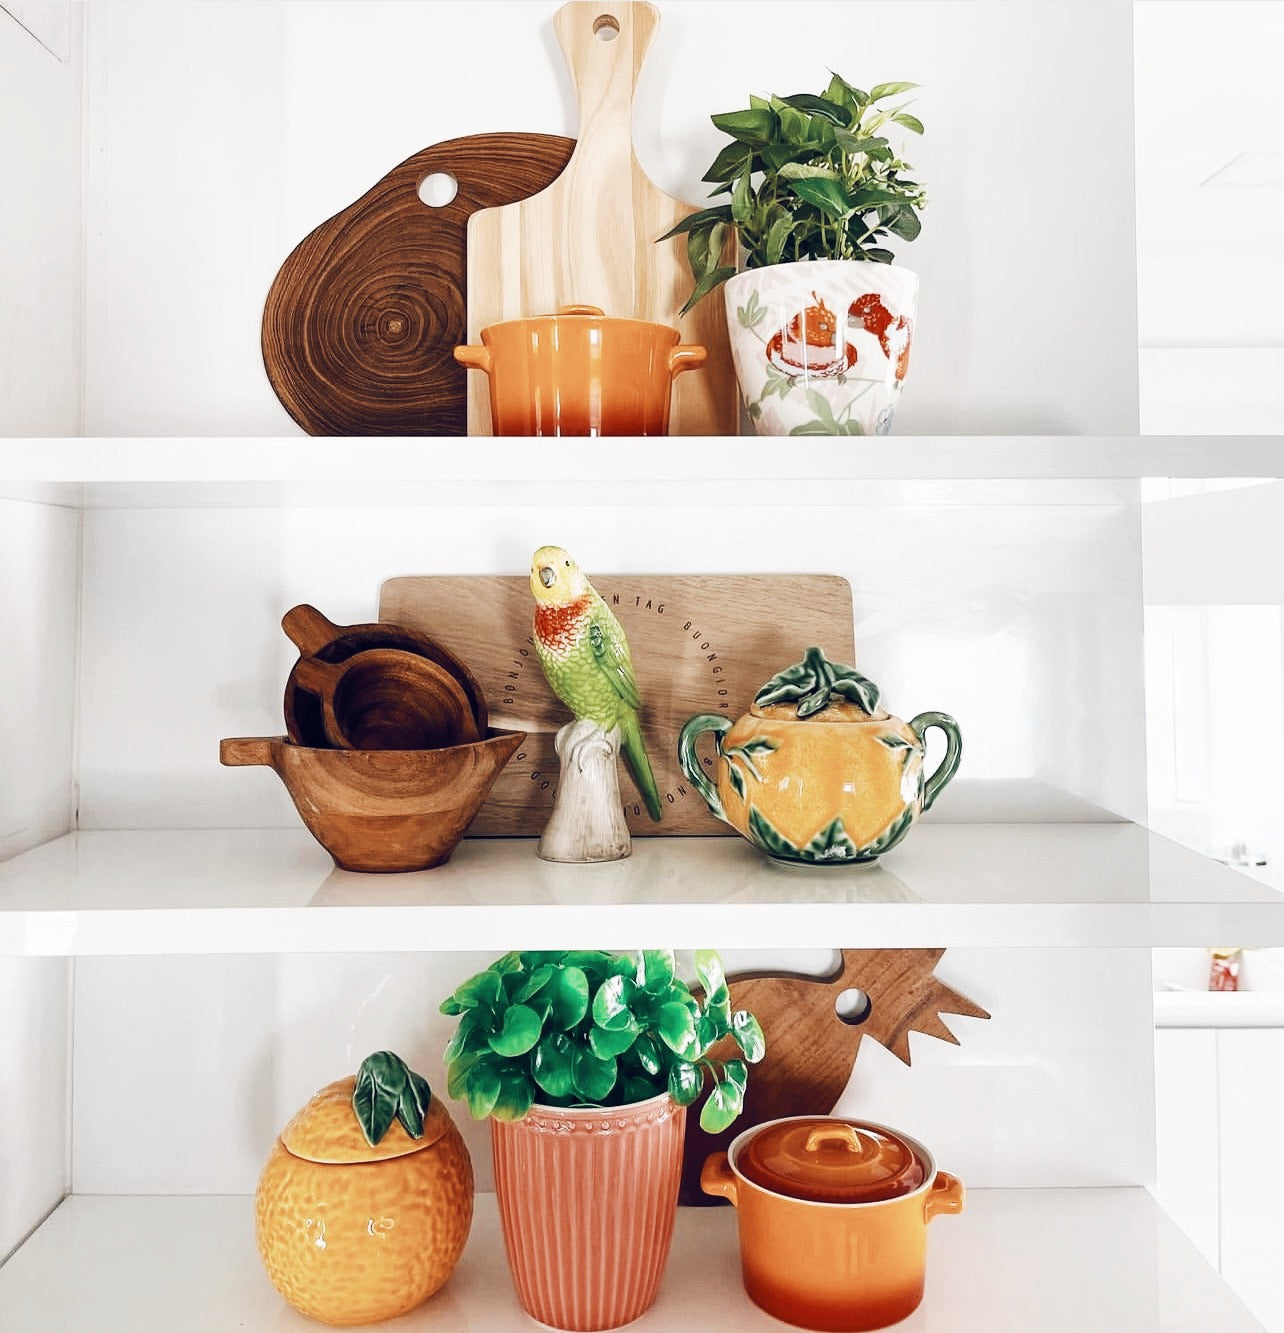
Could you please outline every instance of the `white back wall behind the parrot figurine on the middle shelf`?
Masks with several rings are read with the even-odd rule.
[[[593,505],[91,511],[81,826],[296,826],[275,774],[216,762],[220,737],[283,729],[296,655],[281,615],[311,601],[371,620],[385,579],[511,575],[548,540],[599,571],[797,572],[803,552],[851,581],[857,661],[888,706],[961,722],[963,776],[932,817],[1075,818],[1083,802],[1132,817],[1145,780],[1125,489],[869,484],[856,509],[692,497],[624,523]]]

